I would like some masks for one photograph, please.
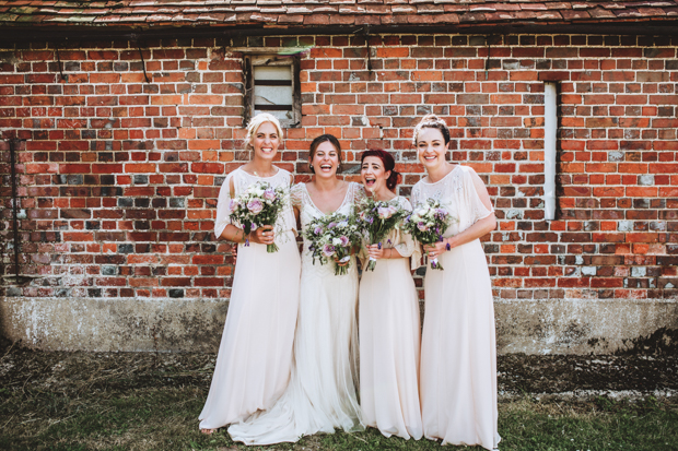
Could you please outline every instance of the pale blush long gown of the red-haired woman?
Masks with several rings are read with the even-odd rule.
[[[396,197],[390,203],[411,211]],[[418,246],[398,229],[384,239],[401,259],[377,260],[360,281],[360,403],[363,422],[391,435],[422,437],[419,402],[419,298],[410,274],[409,257]],[[416,252],[412,261],[419,266]],[[363,268],[365,265],[363,264]]]

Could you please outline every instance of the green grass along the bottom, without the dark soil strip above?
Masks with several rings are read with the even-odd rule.
[[[2,450],[257,450],[233,443],[221,429],[198,431],[206,390],[157,387],[51,392],[30,385],[0,389]],[[593,402],[536,401],[500,404],[501,450],[676,450],[678,404],[599,397]],[[430,440],[360,434],[317,435],[274,450],[434,450]],[[465,447],[446,449],[480,450]]]

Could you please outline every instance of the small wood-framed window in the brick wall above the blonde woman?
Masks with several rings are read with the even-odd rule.
[[[278,55],[245,57],[245,123],[259,112],[276,116],[283,128],[301,126],[299,58]]]

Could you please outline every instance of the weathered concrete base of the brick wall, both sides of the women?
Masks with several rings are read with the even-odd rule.
[[[676,299],[495,301],[499,354],[615,354],[677,348]],[[227,301],[0,299],[5,337],[45,351],[217,352]]]

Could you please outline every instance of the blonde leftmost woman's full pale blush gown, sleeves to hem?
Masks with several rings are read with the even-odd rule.
[[[239,168],[232,171],[219,192],[217,237],[231,223],[231,180],[235,195],[259,180],[290,188],[290,173],[284,169],[266,178]],[[274,229],[278,252],[268,253],[266,245],[255,242],[238,245],[214,376],[199,416],[201,429],[215,429],[270,408],[288,385],[301,273],[291,202]]]

